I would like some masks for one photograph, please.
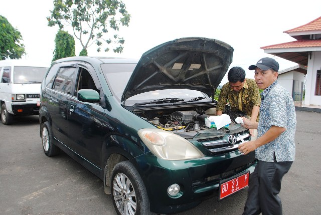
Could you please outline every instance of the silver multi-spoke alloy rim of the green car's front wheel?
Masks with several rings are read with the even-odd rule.
[[[118,211],[123,215],[135,214],[137,207],[136,194],[125,174],[118,173],[114,177],[112,190]]]

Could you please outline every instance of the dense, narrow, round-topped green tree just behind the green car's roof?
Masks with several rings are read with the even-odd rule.
[[[55,51],[52,61],[75,56],[75,39],[68,32],[59,30],[55,39]]]

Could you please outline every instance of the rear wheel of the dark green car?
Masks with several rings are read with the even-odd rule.
[[[51,157],[59,154],[60,149],[52,143],[53,134],[49,122],[45,122],[41,127],[41,140],[42,147],[47,156]]]

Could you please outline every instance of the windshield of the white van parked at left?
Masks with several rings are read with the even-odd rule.
[[[40,84],[47,72],[45,67],[25,67],[15,66],[14,83],[15,84]]]

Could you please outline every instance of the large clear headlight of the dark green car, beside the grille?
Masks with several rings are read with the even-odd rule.
[[[149,150],[165,160],[187,160],[204,157],[192,143],[181,136],[158,128],[138,130],[138,135]]]

